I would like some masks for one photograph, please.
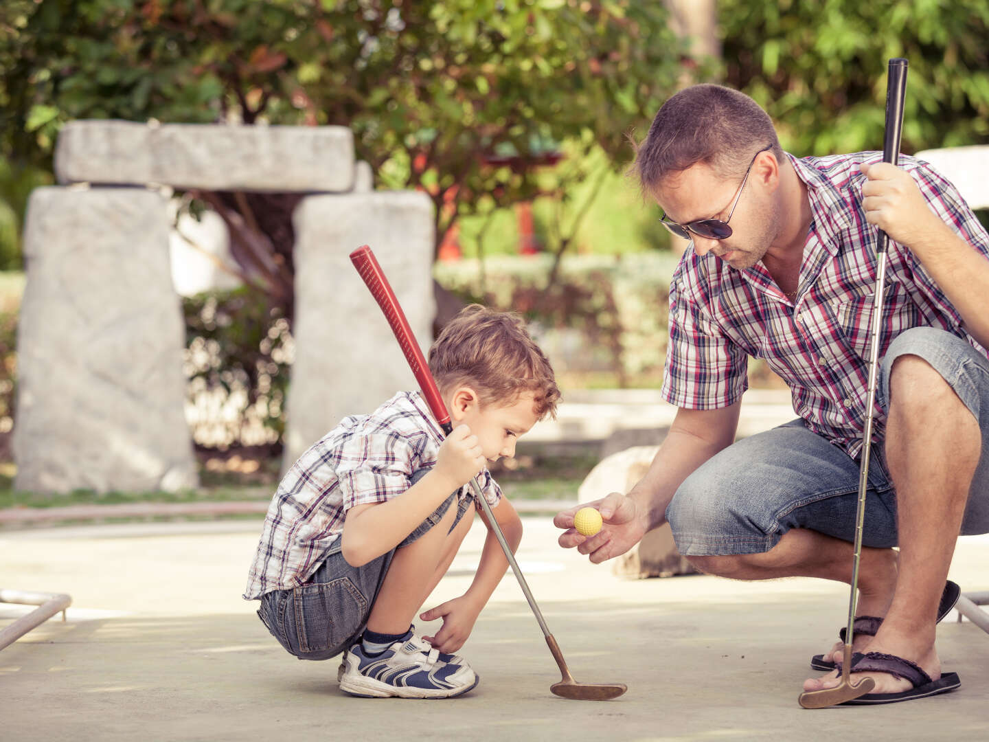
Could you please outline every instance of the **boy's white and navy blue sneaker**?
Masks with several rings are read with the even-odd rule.
[[[444,662],[439,650],[414,635],[370,657],[358,641],[344,655],[337,679],[344,693],[368,698],[449,698],[466,694],[479,680],[466,662]]]

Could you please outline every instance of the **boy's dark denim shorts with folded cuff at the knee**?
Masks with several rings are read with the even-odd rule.
[[[412,484],[427,471],[416,472]],[[424,535],[454,505],[457,515],[450,526],[452,532],[472,503],[467,498],[458,504],[454,493],[396,548]],[[301,660],[328,660],[350,648],[367,625],[395,555],[393,549],[361,567],[351,567],[340,553],[341,540],[338,538],[330,547],[325,561],[305,585],[261,596],[257,611],[261,622],[290,654]]]

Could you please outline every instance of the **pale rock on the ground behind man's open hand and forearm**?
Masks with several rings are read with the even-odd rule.
[[[659,446],[634,446],[602,459],[584,478],[578,500],[587,503],[612,492],[628,492],[649,471],[657,450]],[[611,570],[619,577],[635,579],[696,573],[676,551],[669,524],[649,531],[638,544],[614,560]]]

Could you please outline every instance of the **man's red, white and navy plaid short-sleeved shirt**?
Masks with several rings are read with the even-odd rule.
[[[748,387],[747,356],[764,358],[789,385],[808,427],[853,457],[861,449],[878,230],[865,221],[861,162],[881,152],[797,159],[812,221],[794,303],[762,262],[739,271],[687,248],[670,288],[670,344],[664,398],[676,407],[728,407]],[[955,188],[929,164],[901,156],[931,209],[972,249],[989,257],[989,235]],[[889,241],[879,357],[903,330],[929,325],[968,340],[961,318],[910,250]],[[875,440],[885,416],[875,411]]]

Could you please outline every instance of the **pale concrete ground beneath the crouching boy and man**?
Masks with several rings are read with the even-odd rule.
[[[804,710],[808,660],[844,624],[847,588],[622,581],[560,549],[547,516],[525,517],[522,570],[576,679],[625,683],[625,696],[550,694],[559,671],[510,574],[461,651],[481,676],[473,692],[426,702],[345,696],[336,660],[290,657],[255,603],[240,599],[260,525],[0,532],[0,587],[73,598],[66,622],[51,619],[0,651],[0,739],[989,739],[989,635],[973,624],[949,617],[939,627],[959,691]],[[427,606],[467,588],[483,535],[476,523]],[[951,577],[986,590],[987,565],[989,538],[963,538]],[[28,610],[0,605],[0,627]]]

